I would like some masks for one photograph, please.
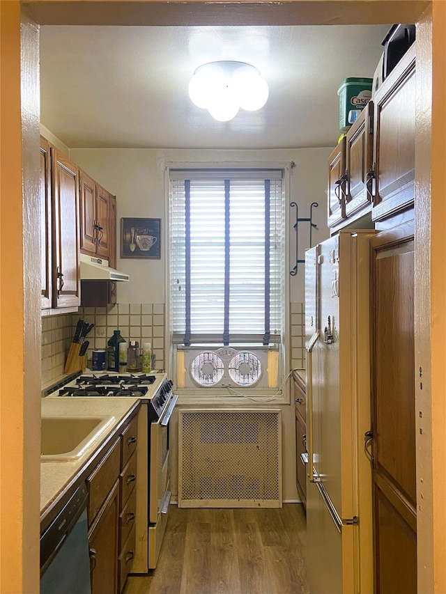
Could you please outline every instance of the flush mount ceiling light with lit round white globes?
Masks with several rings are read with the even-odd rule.
[[[266,104],[268,84],[245,62],[220,61],[199,66],[189,83],[192,102],[220,122],[232,120],[240,107],[257,111]]]

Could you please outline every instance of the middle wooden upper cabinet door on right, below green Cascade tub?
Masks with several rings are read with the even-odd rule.
[[[369,102],[346,134],[346,216],[371,210],[374,104]]]

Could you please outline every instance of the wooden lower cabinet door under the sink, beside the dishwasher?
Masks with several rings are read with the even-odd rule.
[[[118,511],[116,480],[89,531],[92,594],[118,591]]]

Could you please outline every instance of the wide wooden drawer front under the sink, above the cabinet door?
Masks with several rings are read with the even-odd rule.
[[[118,438],[112,448],[110,448],[104,458],[102,458],[93,474],[86,479],[86,486],[89,490],[89,526],[112,489],[116,478],[119,476],[120,458],[121,439]]]

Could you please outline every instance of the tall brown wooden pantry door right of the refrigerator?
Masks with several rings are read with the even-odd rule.
[[[413,224],[372,247],[375,587],[417,592]]]

